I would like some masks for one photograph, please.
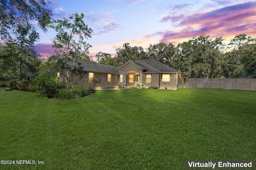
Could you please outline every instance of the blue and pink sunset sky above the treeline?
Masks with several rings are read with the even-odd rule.
[[[149,47],[160,42],[177,45],[201,34],[223,37],[256,36],[255,0],[51,0],[54,19],[84,13],[93,29],[91,56],[98,52],[114,55],[124,43]],[[56,33],[40,31],[35,47],[42,57],[52,55]]]

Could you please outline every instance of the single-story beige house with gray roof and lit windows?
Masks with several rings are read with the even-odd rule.
[[[79,75],[68,71],[68,80],[78,81],[80,86],[88,87],[92,78],[99,76],[102,82],[96,88],[118,88],[124,86],[140,86],[160,89],[182,88],[188,75],[152,59],[128,61],[122,66],[107,66],[91,61],[78,60],[86,71],[86,76],[80,80]],[[68,62],[74,68],[77,63]],[[56,78],[64,79],[64,72],[57,70]]]

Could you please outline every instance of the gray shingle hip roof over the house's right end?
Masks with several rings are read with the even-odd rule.
[[[180,72],[179,70],[166,66],[152,59],[138,60],[134,61],[134,63],[145,68],[146,72]]]

